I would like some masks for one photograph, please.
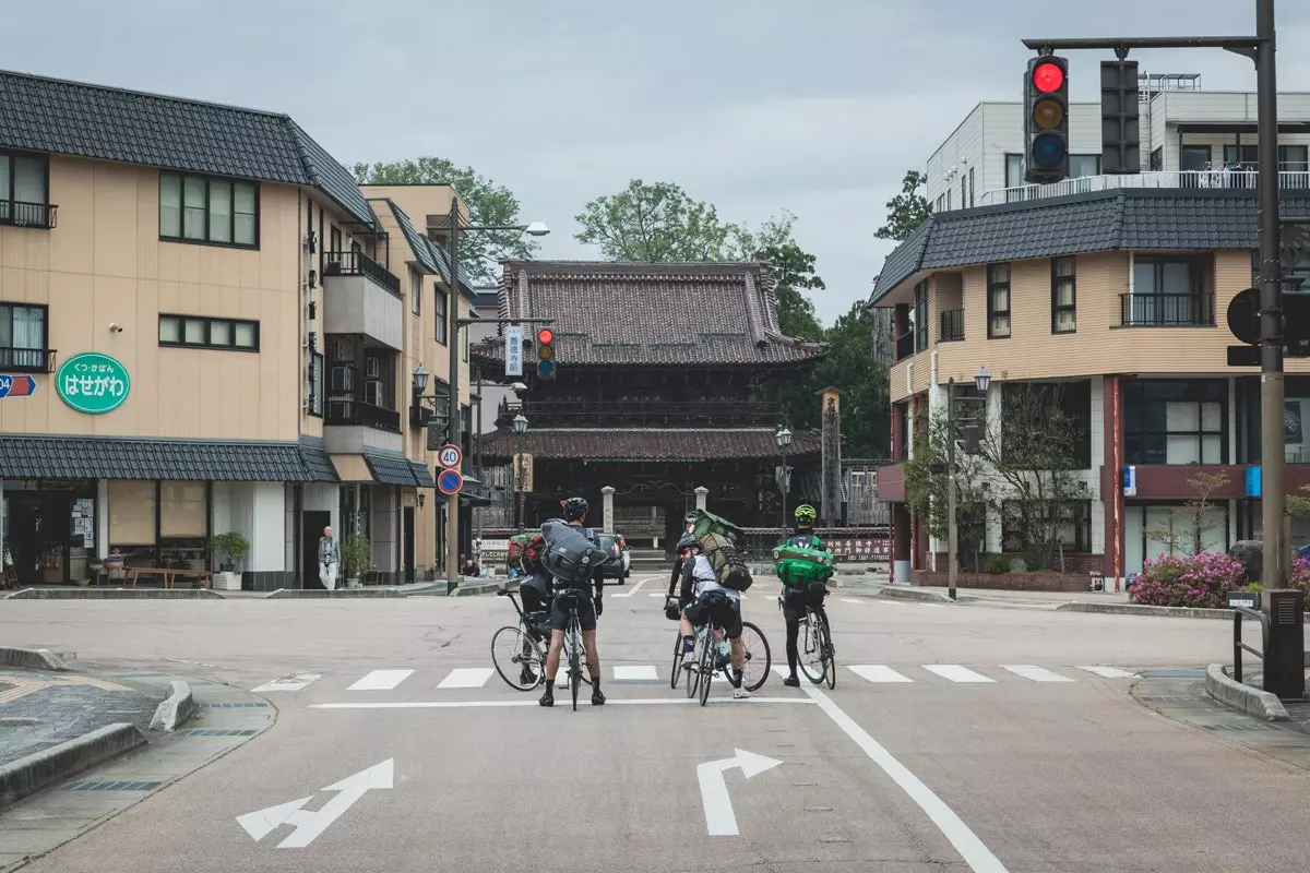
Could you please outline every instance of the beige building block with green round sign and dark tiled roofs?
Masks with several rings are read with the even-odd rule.
[[[17,107],[0,126],[17,581],[90,580],[111,552],[216,569],[208,538],[236,531],[245,588],[313,588],[329,524],[372,542],[367,581],[427,576],[441,501],[411,382],[448,373],[449,268],[401,202],[365,198],[286,115],[8,72],[0,88]]]

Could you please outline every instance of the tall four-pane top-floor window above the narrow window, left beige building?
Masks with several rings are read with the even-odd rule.
[[[160,238],[258,247],[258,204],[254,182],[160,173]]]

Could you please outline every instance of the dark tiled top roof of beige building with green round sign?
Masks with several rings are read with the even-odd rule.
[[[303,185],[373,223],[350,170],[282,114],[0,71],[0,147]]]

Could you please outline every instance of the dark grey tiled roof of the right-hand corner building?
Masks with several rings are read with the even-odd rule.
[[[1310,216],[1310,191],[1284,190],[1284,217]],[[920,270],[1085,251],[1259,246],[1255,191],[1115,188],[934,213],[883,262],[870,304]]]

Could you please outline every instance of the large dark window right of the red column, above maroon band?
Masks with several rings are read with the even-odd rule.
[[[1227,382],[1127,381],[1124,454],[1128,463],[1227,463]]]

